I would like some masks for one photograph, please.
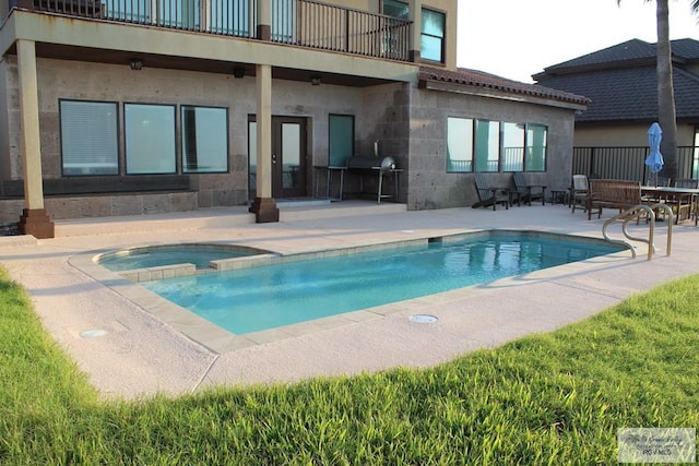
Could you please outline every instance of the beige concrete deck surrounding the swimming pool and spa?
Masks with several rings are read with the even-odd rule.
[[[157,299],[144,303],[142,296],[127,298],[143,288],[125,284],[114,273],[94,276],[74,266],[85,253],[177,242],[310,252],[493,228],[601,238],[602,224],[612,212],[605,210],[602,219],[589,222],[582,212],[573,215],[562,205],[405,212],[396,204],[343,201],[284,207],[277,224],[254,224],[245,207],[59,220],[55,239],[0,237],[0,263],[28,290],[46,328],[105,397],[138,398],[428,367],[553,331],[633,294],[699,273],[699,228],[694,223],[675,226],[671,256],[665,256],[666,225],[660,223],[652,261],[639,244],[636,260],[630,252],[597,258],[245,338],[192,323],[189,313],[170,313]],[[620,237],[619,227],[611,230]],[[631,230],[642,236],[648,227],[641,223]],[[411,322],[416,313],[439,320]],[[102,332],[92,331],[104,334],[94,336]],[[199,343],[204,339],[204,345]]]

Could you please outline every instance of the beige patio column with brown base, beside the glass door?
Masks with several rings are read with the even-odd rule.
[[[280,210],[272,198],[272,67],[256,65],[258,176],[257,192],[250,212],[258,224],[280,220]]]

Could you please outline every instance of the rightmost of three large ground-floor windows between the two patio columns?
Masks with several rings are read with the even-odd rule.
[[[225,108],[180,107],[182,172],[228,171],[228,112]]]

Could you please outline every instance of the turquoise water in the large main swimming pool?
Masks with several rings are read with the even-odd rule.
[[[234,334],[245,334],[618,251],[571,240],[482,236],[142,284]]]

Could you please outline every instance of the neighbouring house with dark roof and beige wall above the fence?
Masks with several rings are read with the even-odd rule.
[[[699,128],[699,41],[672,40],[677,145],[696,146]],[[537,84],[584,95],[576,147],[648,145],[657,121],[655,44],[632,39],[544,69]]]

